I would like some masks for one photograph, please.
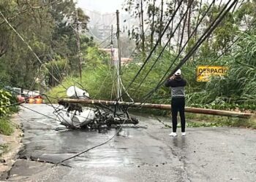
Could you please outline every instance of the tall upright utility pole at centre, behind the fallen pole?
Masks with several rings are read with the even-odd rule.
[[[120,28],[119,28],[119,12],[116,10],[116,37],[117,37],[117,47],[118,47],[118,63],[116,63],[117,71],[117,99],[121,99],[121,45],[120,45]]]

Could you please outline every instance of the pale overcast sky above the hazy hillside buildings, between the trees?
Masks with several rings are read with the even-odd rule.
[[[124,0],[77,0],[78,7],[87,10],[96,10],[98,12],[116,12],[116,9],[121,10],[121,4]]]

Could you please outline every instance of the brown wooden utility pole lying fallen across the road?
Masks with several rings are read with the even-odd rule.
[[[80,104],[97,104],[102,103],[105,105],[116,105],[116,101],[109,101],[109,100],[89,100],[89,99],[70,99],[65,98],[62,101],[67,103],[80,103]],[[170,105],[168,104],[154,104],[154,103],[131,103],[131,102],[118,102],[119,106],[129,106],[134,108],[157,108],[162,110],[170,110]],[[218,115],[218,116],[230,116],[230,117],[238,117],[238,118],[249,118],[252,114],[248,113],[240,113],[236,111],[222,111],[222,110],[214,110],[214,109],[207,109],[207,108],[185,108],[186,112],[189,113],[197,113],[197,114],[211,114],[211,115]]]

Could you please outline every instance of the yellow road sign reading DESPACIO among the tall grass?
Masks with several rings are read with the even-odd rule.
[[[225,66],[197,66],[197,82],[208,82],[211,76],[227,74]]]

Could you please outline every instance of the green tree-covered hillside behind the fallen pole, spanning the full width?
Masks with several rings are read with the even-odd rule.
[[[255,110],[255,1],[126,0],[124,11],[140,22],[124,30],[136,42],[132,62],[121,68],[129,95],[135,101],[169,103],[169,90],[159,81],[186,58],[222,9],[230,5],[214,31],[182,64],[189,83],[187,105]],[[100,44],[84,34],[90,17],[76,9],[74,1],[1,1],[0,10],[33,50],[0,16],[0,77],[9,82],[4,84],[43,90],[53,98],[64,96],[70,85],[81,84],[92,98],[115,99],[116,68],[110,55],[99,50]],[[82,80],[75,31],[78,23]],[[226,66],[228,72],[209,82],[197,82],[200,65]],[[129,100],[126,93],[123,97]]]

